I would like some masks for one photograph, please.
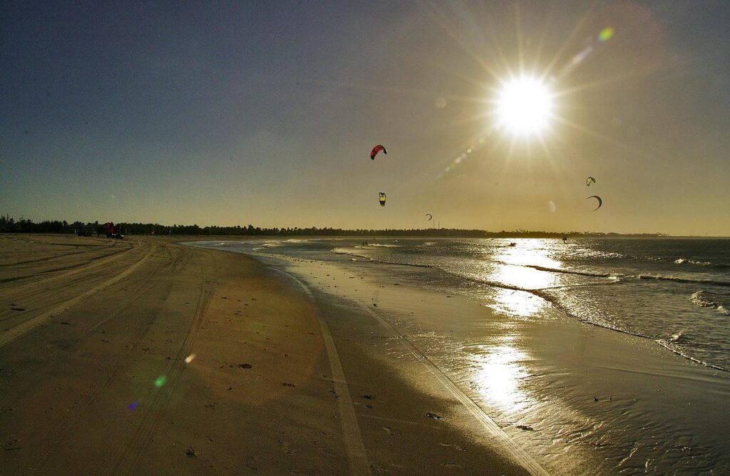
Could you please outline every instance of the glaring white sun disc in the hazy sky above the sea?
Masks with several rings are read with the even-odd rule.
[[[496,98],[499,128],[515,136],[540,134],[548,126],[553,110],[553,94],[532,77],[504,82]]]

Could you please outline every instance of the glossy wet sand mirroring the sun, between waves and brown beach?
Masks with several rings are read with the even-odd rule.
[[[730,424],[723,404],[730,396],[726,372],[667,352],[653,339],[575,320],[550,304],[535,318],[496,316],[477,299],[444,299],[445,293],[409,287],[407,280],[393,282],[396,271],[384,269],[397,265],[285,261],[285,269],[307,280],[323,301],[358,302],[383,315],[550,472],[669,470],[662,464],[683,472],[696,456],[710,461],[706,470],[729,467],[730,441],[721,436]],[[363,279],[371,281],[368,292]],[[427,304],[411,299],[423,293],[431,296]],[[454,307],[465,309],[462,320],[472,327],[444,317]],[[452,331],[461,332],[462,348],[478,351],[450,348]],[[471,339],[469,331],[483,339]],[[475,375],[481,381],[475,383]],[[499,380],[502,391],[510,388],[507,396],[490,397],[501,390],[489,379]]]

